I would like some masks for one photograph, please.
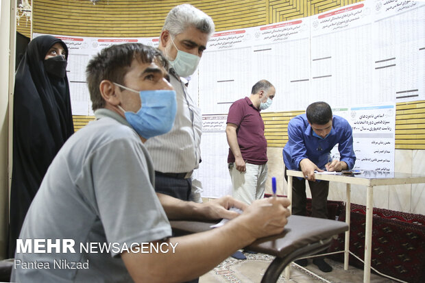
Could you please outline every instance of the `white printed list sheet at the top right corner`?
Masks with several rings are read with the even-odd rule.
[[[425,99],[425,3],[375,1],[374,93],[380,101]]]

